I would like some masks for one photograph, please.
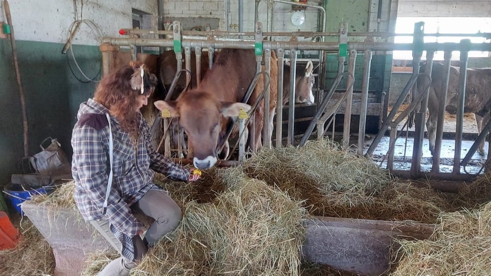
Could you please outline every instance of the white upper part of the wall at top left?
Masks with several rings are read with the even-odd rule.
[[[16,40],[65,43],[77,19],[91,20],[102,36],[120,36],[121,28],[132,28],[131,8],[157,16],[157,0],[8,0]],[[76,5],[74,5],[74,2]],[[2,4],[0,21],[6,22]],[[83,9],[81,8],[83,3]],[[78,14],[78,16],[76,16]],[[100,36],[83,24],[73,44],[99,45]]]

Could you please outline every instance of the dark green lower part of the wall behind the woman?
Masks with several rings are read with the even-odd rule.
[[[40,151],[41,141],[57,138],[69,157],[71,131],[78,106],[91,97],[96,83],[79,81],[70,51],[63,55],[63,44],[16,41],[20,75],[24,85],[29,126],[29,155]],[[90,78],[100,78],[99,47],[73,45],[79,66]],[[23,122],[12,48],[0,39],[0,187],[11,174],[22,173],[18,160],[24,156]],[[72,73],[73,70],[73,73]]]

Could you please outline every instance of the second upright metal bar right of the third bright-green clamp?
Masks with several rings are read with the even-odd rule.
[[[372,51],[365,51],[365,66],[363,67],[362,81],[362,102],[360,110],[360,122],[358,127],[358,155],[363,155],[363,147],[365,146],[365,126],[367,120],[367,105],[368,105],[368,85],[370,82],[370,64],[372,61]]]

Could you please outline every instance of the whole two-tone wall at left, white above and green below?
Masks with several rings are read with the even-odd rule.
[[[71,52],[61,54],[75,20],[74,3],[80,18],[80,1],[9,0],[12,29],[17,44],[20,75],[24,85],[29,125],[29,155],[40,151],[40,142],[56,137],[71,156],[70,138],[76,111],[91,97],[96,83],[78,72]],[[6,21],[3,1],[0,21]],[[90,19],[103,36],[117,36],[120,28],[131,28],[131,8],[157,13],[157,1],[84,0],[82,18]],[[73,41],[76,61],[87,77],[99,79],[101,53],[99,36],[83,25]],[[23,122],[12,50],[0,39],[0,188],[10,175],[21,173],[17,160],[24,156]],[[73,71],[73,73],[72,73]]]

